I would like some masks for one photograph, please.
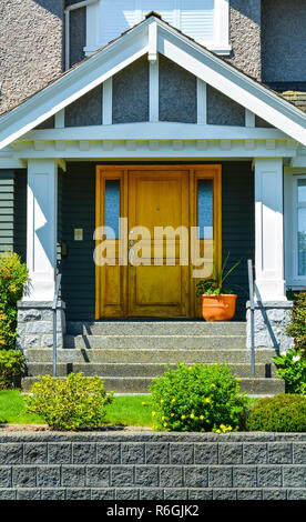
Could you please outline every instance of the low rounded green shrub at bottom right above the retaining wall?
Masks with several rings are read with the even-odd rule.
[[[248,431],[305,432],[306,398],[280,393],[261,399],[247,414],[246,429]]]

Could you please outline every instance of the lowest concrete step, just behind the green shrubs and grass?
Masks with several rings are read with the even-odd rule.
[[[120,394],[146,394],[150,393],[149,385],[153,378],[110,378],[101,375],[104,381],[105,390]],[[38,380],[35,377],[22,379],[22,390],[30,391],[31,385]],[[280,379],[242,379],[241,392],[249,395],[275,395],[284,392],[284,381]]]

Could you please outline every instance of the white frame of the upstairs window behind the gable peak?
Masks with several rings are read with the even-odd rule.
[[[100,49],[103,44],[101,38],[100,27],[100,9],[103,0],[96,0],[95,3],[86,6],[86,46],[84,47],[85,56],[90,56]],[[200,44],[205,46],[211,51],[221,56],[228,56],[232,47],[230,43],[230,0],[214,0],[215,1],[215,16],[214,16],[214,33],[215,38],[212,41],[198,41]],[[176,0],[175,11],[180,12],[180,0]],[[136,0],[135,12],[141,14],[141,0]],[[180,14],[176,16],[178,20]],[[136,22],[141,19],[136,20]],[[180,30],[180,23],[177,29]],[[120,34],[118,34],[119,37]]]

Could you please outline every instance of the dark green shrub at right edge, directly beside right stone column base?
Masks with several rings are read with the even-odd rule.
[[[292,321],[286,332],[294,338],[295,348],[302,350],[306,359],[306,292],[299,292],[295,295]]]

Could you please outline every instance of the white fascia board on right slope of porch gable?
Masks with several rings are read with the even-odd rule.
[[[306,114],[174,29],[157,21],[157,50],[245,109],[306,144]]]

